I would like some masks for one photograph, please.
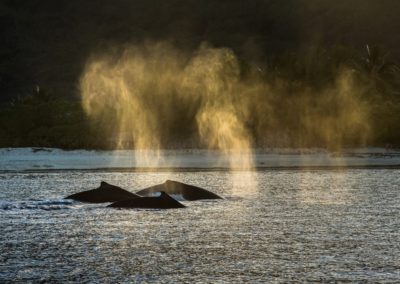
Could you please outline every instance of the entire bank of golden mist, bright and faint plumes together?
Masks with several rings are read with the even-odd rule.
[[[254,169],[254,145],[340,150],[368,140],[370,106],[352,70],[341,69],[319,89],[257,72],[243,76],[228,48],[125,46],[88,60],[82,104],[94,125],[115,137],[115,148],[151,149],[156,155],[136,160],[153,165],[149,160],[159,159],[171,140],[184,140],[182,133],[219,150],[239,170]]]

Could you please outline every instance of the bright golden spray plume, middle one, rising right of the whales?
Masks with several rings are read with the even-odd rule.
[[[241,116],[246,106],[239,101],[243,88],[233,52],[203,45],[184,73],[185,87],[201,97],[196,115],[200,139],[230,157],[231,168],[252,169],[252,136]]]

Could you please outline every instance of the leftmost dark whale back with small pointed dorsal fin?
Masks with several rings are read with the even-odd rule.
[[[75,193],[65,197],[65,199],[74,199],[89,203],[103,203],[132,199],[136,197],[140,196],[118,186],[102,181],[98,188]]]

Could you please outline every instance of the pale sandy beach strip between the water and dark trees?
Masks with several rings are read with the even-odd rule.
[[[251,167],[240,164],[250,157]],[[54,148],[0,148],[0,172],[43,171],[243,171],[320,169],[398,169],[400,151],[384,148],[255,149],[251,156],[235,152],[184,149],[164,151],[65,151]]]

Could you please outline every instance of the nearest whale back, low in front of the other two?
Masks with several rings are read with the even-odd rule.
[[[114,202],[107,207],[114,208],[153,208],[153,209],[172,209],[185,208],[186,206],[176,201],[171,196],[161,191],[157,197],[138,197]]]

